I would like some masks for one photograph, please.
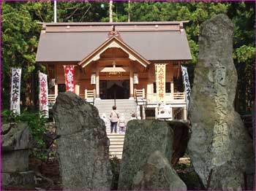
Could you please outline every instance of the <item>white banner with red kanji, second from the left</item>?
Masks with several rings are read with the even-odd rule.
[[[47,75],[39,72],[39,112],[49,117]]]

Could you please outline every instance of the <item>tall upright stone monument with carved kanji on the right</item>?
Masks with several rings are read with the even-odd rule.
[[[233,108],[237,74],[232,53],[231,20],[226,15],[217,15],[203,23],[189,106],[192,136],[188,148],[204,186],[213,188],[209,182],[216,179],[217,190],[227,188],[227,184],[229,189],[244,188],[241,174],[252,173],[254,169],[252,139]],[[230,177],[234,174],[225,173],[229,168],[237,169],[237,179]],[[213,176],[222,177],[222,181]]]

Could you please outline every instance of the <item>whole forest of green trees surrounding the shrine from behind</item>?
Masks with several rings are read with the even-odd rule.
[[[22,68],[21,109],[37,109],[35,63],[41,25],[53,22],[53,1],[2,2],[1,4],[1,106],[10,107],[10,68]],[[58,22],[108,22],[108,1],[59,1]],[[113,22],[189,20],[187,31],[192,61],[188,64],[192,80],[197,63],[199,27],[219,13],[233,20],[233,58],[238,71],[236,110],[249,113],[255,98],[255,3],[254,2],[113,2]]]

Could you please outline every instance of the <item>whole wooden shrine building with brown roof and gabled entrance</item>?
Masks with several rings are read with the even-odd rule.
[[[157,118],[155,66],[165,64],[165,104],[186,120],[181,64],[192,60],[184,23],[41,23],[37,63],[47,68],[49,101],[65,91],[64,66],[75,65],[75,93],[109,114]]]

